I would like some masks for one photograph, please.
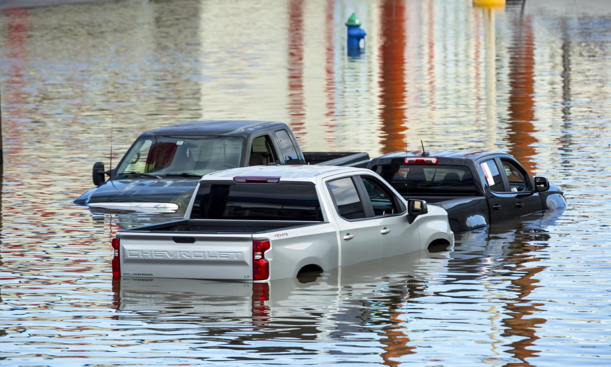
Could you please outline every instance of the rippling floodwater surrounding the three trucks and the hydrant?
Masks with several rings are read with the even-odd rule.
[[[0,365],[611,365],[609,2],[100,1],[0,29]],[[111,131],[115,165],[212,118],[287,122],[304,150],[507,151],[568,208],[269,286],[112,280],[114,232],[168,215],[71,202]]]

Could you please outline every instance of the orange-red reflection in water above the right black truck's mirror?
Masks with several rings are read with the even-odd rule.
[[[510,154],[522,163],[529,173],[535,169],[532,158],[536,154],[533,144],[535,132],[535,46],[533,29],[527,16],[524,23],[516,24],[514,45],[510,48],[509,73],[509,130]]]

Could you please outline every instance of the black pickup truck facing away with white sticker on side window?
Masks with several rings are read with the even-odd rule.
[[[503,219],[566,206],[562,190],[533,178],[506,153],[395,151],[367,166],[406,199],[420,199],[448,212],[455,232]]]

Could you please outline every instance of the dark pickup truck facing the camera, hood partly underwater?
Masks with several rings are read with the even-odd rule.
[[[93,165],[97,187],[75,200],[93,208],[174,212],[186,208],[200,178],[211,172],[276,164],[366,167],[368,153],[303,153],[281,122],[194,121],[141,134],[117,167]],[[106,176],[108,181],[105,181]]]

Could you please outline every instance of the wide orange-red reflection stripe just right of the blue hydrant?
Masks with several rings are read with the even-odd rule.
[[[395,0],[382,1],[380,9],[382,39],[380,46],[382,151],[404,150],[405,127],[405,6]]]

